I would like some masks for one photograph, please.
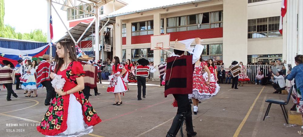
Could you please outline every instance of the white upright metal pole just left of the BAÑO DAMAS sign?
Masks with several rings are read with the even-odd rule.
[[[96,45],[96,51],[95,51],[95,62],[100,59],[100,44],[99,44],[99,7],[95,6],[95,45]]]

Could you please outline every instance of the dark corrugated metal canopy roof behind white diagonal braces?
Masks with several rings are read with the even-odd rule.
[[[100,19],[100,25],[99,25],[99,29],[102,28],[102,22],[103,24],[105,24],[105,22],[107,22],[108,18],[102,18]],[[106,26],[112,25],[113,23],[115,23],[116,21],[114,20],[114,18],[111,18],[109,20],[109,22],[107,23]],[[69,30],[69,32],[72,34],[72,36],[74,37],[75,41],[78,41],[78,39],[80,38],[80,36],[82,35],[82,33],[85,31],[85,29],[88,27],[89,23],[84,23],[84,22],[79,22],[76,26],[74,26],[72,29]],[[94,30],[94,31],[93,31]],[[83,35],[82,39],[85,39],[89,36],[92,35],[92,32],[95,33],[95,22],[92,24],[92,26],[90,26],[88,28],[88,30],[85,32],[85,34]],[[103,33],[102,33],[103,34]],[[63,36],[61,39],[69,39],[70,36],[68,34],[68,32],[66,32],[66,35]],[[81,40],[80,40],[81,41]]]

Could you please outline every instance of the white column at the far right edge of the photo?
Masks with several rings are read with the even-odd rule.
[[[303,1],[299,0],[298,4],[298,54],[303,55]]]

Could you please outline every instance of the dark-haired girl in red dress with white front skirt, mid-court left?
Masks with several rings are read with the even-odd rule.
[[[115,103],[113,105],[119,106],[122,104],[120,94],[127,91],[127,87],[122,78],[122,75],[126,72],[126,69],[122,64],[120,64],[119,57],[114,57],[112,62],[114,62],[114,65],[112,67],[112,75],[108,76],[108,80],[110,82],[106,92],[114,93]]]

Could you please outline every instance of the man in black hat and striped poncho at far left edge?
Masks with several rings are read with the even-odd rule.
[[[11,95],[15,98],[18,98],[17,94],[13,91],[12,85],[15,82],[15,70],[11,67],[14,67],[13,63],[8,60],[3,60],[4,67],[0,68],[0,84],[3,84],[7,89],[7,101],[12,101]]]

